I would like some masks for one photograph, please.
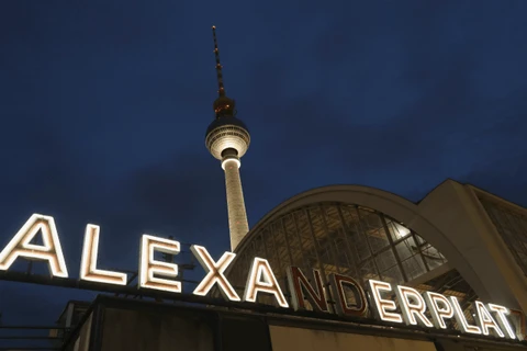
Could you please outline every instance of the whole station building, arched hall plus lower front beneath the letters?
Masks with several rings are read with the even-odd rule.
[[[250,261],[265,258],[290,299],[287,267],[316,269],[330,306],[332,273],[351,276],[365,290],[372,279],[402,284],[456,296],[472,325],[471,303],[492,302],[512,309],[515,340],[463,333],[453,319],[437,330],[382,322],[371,312],[360,318],[321,314],[309,303],[306,310],[294,312],[278,308],[266,294],[250,306],[100,296],[71,329],[64,350],[525,349],[526,234],[525,208],[452,180],[418,203],[367,186],[325,186],[269,212],[237,246],[227,275],[242,296]]]

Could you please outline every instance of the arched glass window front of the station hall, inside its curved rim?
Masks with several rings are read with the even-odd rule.
[[[269,261],[283,291],[285,269],[317,269],[323,281],[330,273],[393,284],[412,282],[447,259],[404,224],[363,206],[322,202],[267,219],[242,242],[237,264],[229,272],[244,286],[255,257]],[[261,301],[265,303],[265,299]]]

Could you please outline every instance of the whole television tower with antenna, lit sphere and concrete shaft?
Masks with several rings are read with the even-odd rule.
[[[249,148],[250,135],[245,124],[236,118],[235,101],[225,94],[215,26],[212,27],[212,35],[214,37],[214,55],[216,57],[218,97],[213,104],[216,117],[206,128],[205,145],[212,156],[222,161],[222,168],[225,171],[228,230],[231,234],[231,249],[234,251],[239,241],[249,231],[239,167],[242,166],[242,156]]]

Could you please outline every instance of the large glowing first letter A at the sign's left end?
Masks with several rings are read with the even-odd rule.
[[[44,245],[30,244],[38,231],[42,233]],[[0,270],[9,270],[19,257],[47,261],[52,276],[68,278],[57,228],[51,216],[31,215],[30,219],[0,252]]]

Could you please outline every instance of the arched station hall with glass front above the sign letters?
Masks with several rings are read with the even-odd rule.
[[[240,262],[268,259],[274,272],[314,268],[326,282],[330,273],[377,279],[525,313],[526,245],[525,208],[447,180],[417,204],[359,185],[307,191],[265,216],[236,252]],[[244,269],[231,272],[238,286]]]

